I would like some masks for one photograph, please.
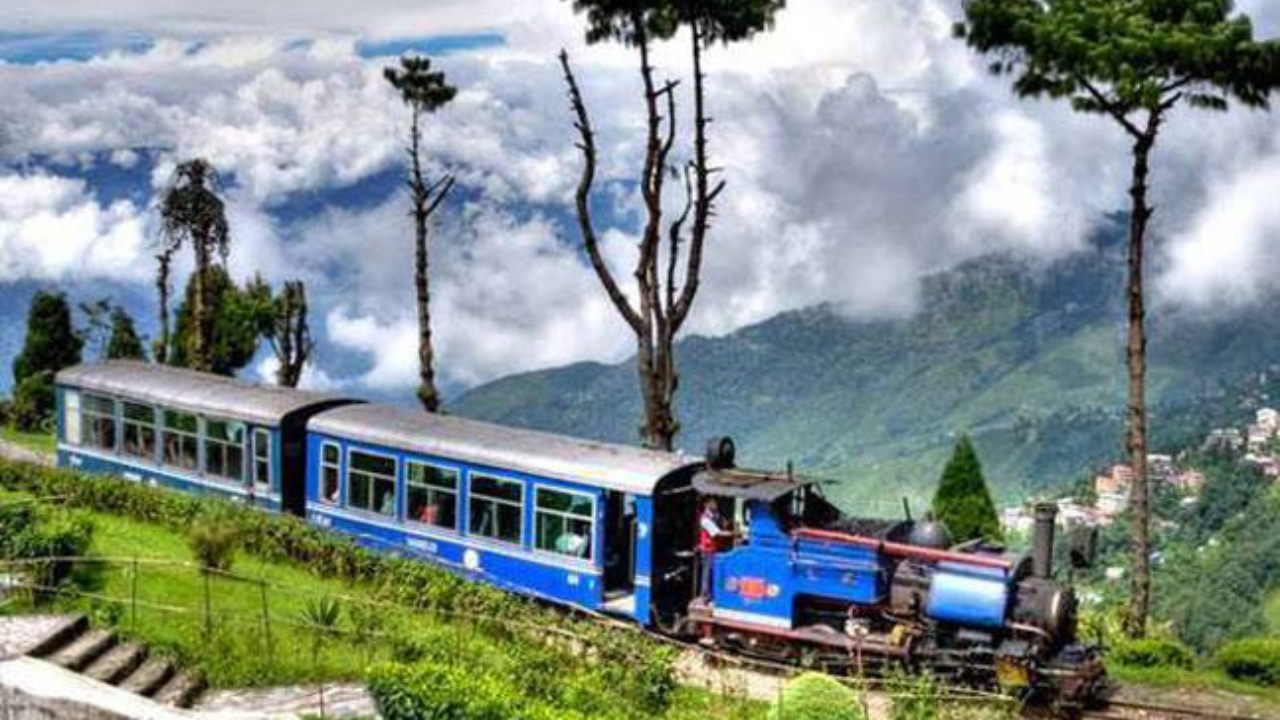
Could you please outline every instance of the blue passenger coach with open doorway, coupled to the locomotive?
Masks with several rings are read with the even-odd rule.
[[[307,516],[372,547],[649,624],[700,459],[349,405],[315,416]],[[658,548],[655,551],[655,548]],[[664,611],[662,607],[657,607]],[[675,609],[669,609],[675,610]]]

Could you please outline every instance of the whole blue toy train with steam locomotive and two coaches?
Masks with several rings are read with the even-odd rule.
[[[929,521],[842,515],[791,473],[134,361],[58,374],[59,465],[306,518],[512,592],[786,661],[896,665],[1083,703],[1105,682],[1029,557]],[[714,498],[741,529],[699,553]],[[710,562],[703,573],[700,562]],[[710,587],[699,587],[709,575]]]

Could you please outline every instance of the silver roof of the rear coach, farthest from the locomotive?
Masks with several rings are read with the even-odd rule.
[[[264,425],[340,397],[264,386],[137,360],[87,363],[58,373],[58,384]]]

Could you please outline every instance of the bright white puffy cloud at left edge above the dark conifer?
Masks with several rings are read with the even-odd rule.
[[[145,249],[132,202],[102,206],[77,179],[0,174],[0,282],[143,281]]]

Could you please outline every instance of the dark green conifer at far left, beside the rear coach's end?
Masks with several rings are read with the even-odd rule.
[[[81,361],[84,341],[72,327],[72,311],[61,293],[37,292],[27,313],[27,337],[13,361],[13,421],[37,430],[54,414],[54,375]]]

